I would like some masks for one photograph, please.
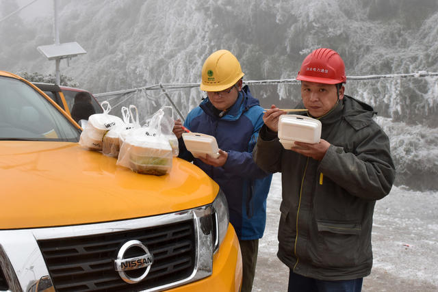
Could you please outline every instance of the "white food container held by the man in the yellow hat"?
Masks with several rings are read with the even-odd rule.
[[[202,133],[183,133],[185,148],[192,152],[196,158],[205,158],[208,154],[211,157],[219,157],[219,148],[216,138]]]

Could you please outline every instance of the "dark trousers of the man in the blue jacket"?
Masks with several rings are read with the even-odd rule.
[[[259,239],[240,240],[240,251],[242,252],[242,289],[241,292],[250,292],[253,289],[255,276],[255,265],[257,264],[257,253],[259,252]]]

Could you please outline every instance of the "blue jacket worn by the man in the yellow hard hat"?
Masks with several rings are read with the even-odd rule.
[[[192,132],[216,137],[218,147],[228,153],[220,168],[196,159],[179,140],[179,157],[194,161],[213,178],[227,196],[230,222],[242,240],[259,239],[266,225],[266,197],[272,174],[261,170],[253,161],[253,148],[263,125],[263,109],[251,96],[248,85],[242,88],[235,104],[219,118],[208,98],[192,109],[184,127]]]

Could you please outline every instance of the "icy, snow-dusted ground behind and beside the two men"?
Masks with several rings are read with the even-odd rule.
[[[253,291],[287,291],[289,269],[276,257],[281,174],[274,174],[268,218],[259,241]],[[393,187],[376,202],[372,245],[374,265],[363,292],[438,291],[438,192]]]

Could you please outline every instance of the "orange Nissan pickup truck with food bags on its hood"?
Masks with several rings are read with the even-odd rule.
[[[227,200],[192,163],[137,174],[79,146],[35,85],[0,71],[0,291],[239,291]]]

